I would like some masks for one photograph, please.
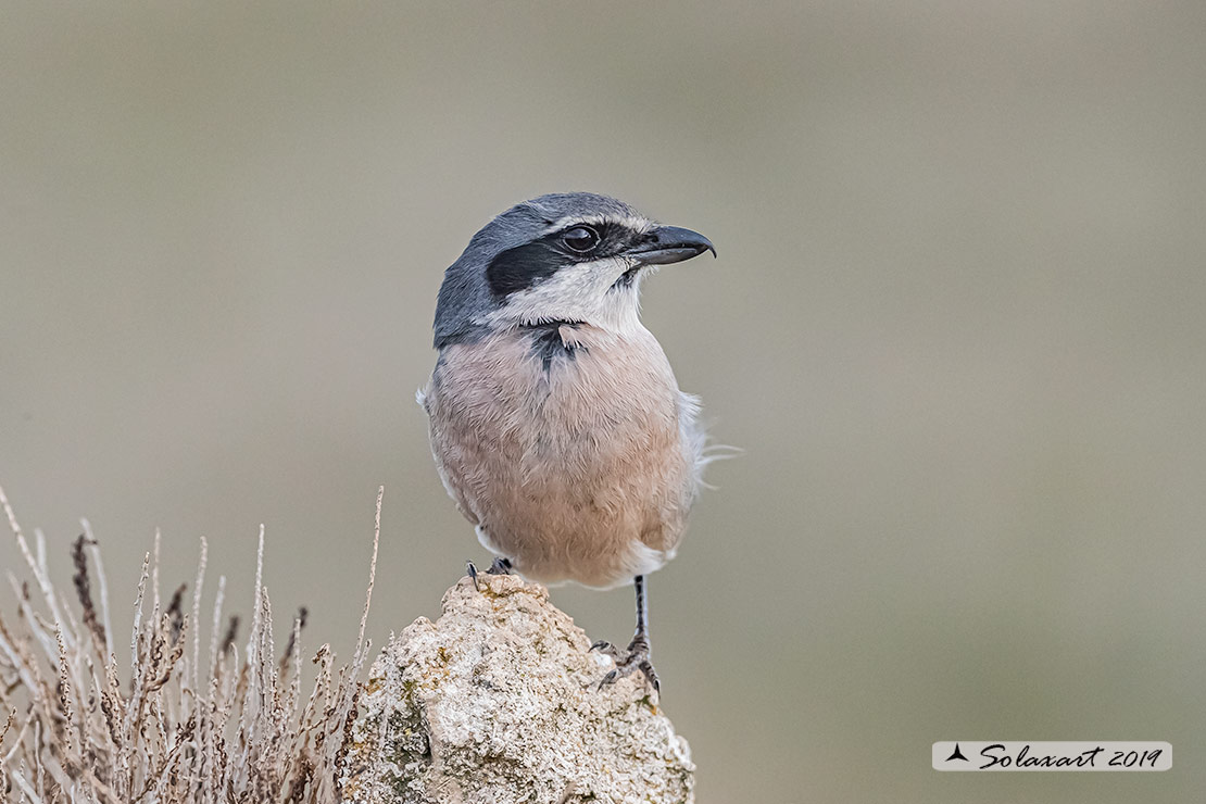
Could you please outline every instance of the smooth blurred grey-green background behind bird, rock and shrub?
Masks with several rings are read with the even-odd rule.
[[[699,802],[1201,800],[1204,48],[1195,1],[4,4],[0,483],[123,628],[157,527],[246,614],[264,523],[344,658],[384,485],[381,645],[487,561],[414,403],[444,268],[614,194],[720,252],[644,297],[745,451],[650,586]],[[554,591],[615,641],[631,595]]]

